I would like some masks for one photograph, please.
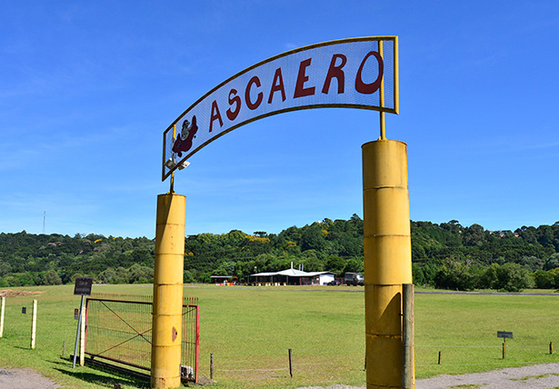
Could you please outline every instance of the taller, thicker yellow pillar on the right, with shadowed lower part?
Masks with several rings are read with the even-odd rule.
[[[367,389],[400,388],[402,284],[412,283],[406,145],[362,147]]]

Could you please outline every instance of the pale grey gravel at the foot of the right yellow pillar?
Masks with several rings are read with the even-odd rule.
[[[415,389],[450,388],[557,389],[559,388],[559,364],[535,364],[486,373],[438,375],[415,382]],[[332,385],[326,388],[308,386],[299,389],[364,389],[364,386]]]

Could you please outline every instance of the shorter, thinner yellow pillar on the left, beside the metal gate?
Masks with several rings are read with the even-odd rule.
[[[157,196],[151,371],[157,389],[181,384],[185,210],[184,195]]]

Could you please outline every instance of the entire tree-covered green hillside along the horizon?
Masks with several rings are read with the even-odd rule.
[[[411,222],[414,283],[444,289],[559,288],[559,222],[487,231],[458,221]],[[153,281],[155,240],[97,234],[0,234],[0,287]],[[324,219],[279,234],[195,234],[185,238],[185,283],[211,275],[305,271],[363,272],[363,220]]]

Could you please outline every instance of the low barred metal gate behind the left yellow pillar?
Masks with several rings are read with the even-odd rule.
[[[150,371],[152,354],[151,295],[92,294],[86,299],[85,354]],[[198,382],[200,305],[183,299],[181,378]]]

